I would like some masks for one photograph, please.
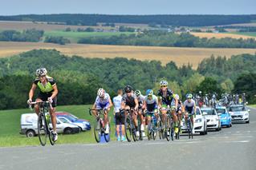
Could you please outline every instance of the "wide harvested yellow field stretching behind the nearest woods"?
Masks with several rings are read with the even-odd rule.
[[[205,57],[215,56],[231,57],[241,53],[256,53],[256,49],[207,49],[207,48],[177,48],[177,47],[151,47],[126,45],[55,45],[43,42],[0,42],[0,57],[26,52],[31,49],[57,49],[68,56],[81,57],[127,57],[137,60],[157,60],[163,65],[174,61],[178,66],[193,65],[197,69]]]

